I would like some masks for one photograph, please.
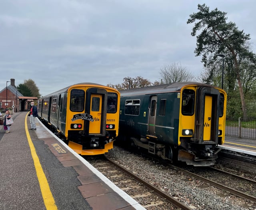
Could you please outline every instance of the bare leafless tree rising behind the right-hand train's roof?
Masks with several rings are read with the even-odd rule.
[[[166,84],[195,80],[195,76],[186,70],[186,67],[183,67],[178,63],[164,65],[164,67],[160,68],[160,76],[163,83]]]

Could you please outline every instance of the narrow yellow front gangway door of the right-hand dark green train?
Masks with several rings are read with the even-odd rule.
[[[204,141],[209,141],[211,138],[211,126],[212,126],[212,96],[205,96]]]

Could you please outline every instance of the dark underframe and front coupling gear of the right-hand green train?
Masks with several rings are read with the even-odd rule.
[[[132,145],[148,150],[148,153],[157,155],[172,162],[182,161],[193,166],[211,166],[216,163],[218,152],[216,144],[198,144],[186,142],[182,146],[161,144],[156,138],[130,138]]]

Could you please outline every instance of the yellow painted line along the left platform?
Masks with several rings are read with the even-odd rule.
[[[28,132],[27,117],[28,117],[28,115],[26,115],[26,118],[25,118],[25,130],[26,130],[26,135],[27,135],[27,139],[28,139],[28,144],[29,144],[29,147],[30,147],[30,150],[31,150],[31,155],[32,155],[32,158],[34,160],[34,166],[36,168],[36,175],[37,175],[39,185],[40,185],[40,189],[41,189],[41,192],[42,192],[44,205],[45,205],[47,210],[55,210],[55,209],[57,210],[58,208],[55,205],[55,201],[54,201],[54,198],[52,196],[52,192],[50,190],[48,181],[46,179],[46,176],[45,176],[44,171],[42,169],[42,166],[40,164],[40,160],[39,160],[39,158],[36,154],[36,149],[34,147],[34,144],[31,140],[29,132]]]

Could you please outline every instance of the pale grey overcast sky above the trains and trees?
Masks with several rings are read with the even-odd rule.
[[[227,12],[256,53],[255,0],[0,0],[0,89],[10,78],[34,80],[43,96],[80,82],[154,82],[174,62],[198,75],[186,22],[203,3]]]

